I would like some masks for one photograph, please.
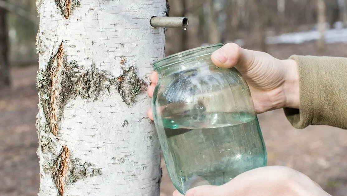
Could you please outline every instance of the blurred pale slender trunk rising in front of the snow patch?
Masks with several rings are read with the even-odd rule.
[[[325,47],[325,22],[326,22],[326,14],[325,14],[325,2],[324,0],[317,0],[317,24],[319,31],[319,39],[317,41],[317,47],[319,50],[324,50]]]

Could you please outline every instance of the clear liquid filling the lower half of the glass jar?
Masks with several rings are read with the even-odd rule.
[[[266,165],[256,116],[209,113],[199,120],[207,124],[196,124],[194,118],[172,117],[163,119],[164,127],[158,128],[164,129],[159,135],[164,141],[163,154],[169,173],[175,174],[171,181],[180,193],[200,185],[222,185],[240,173]],[[226,118],[230,123],[218,123],[226,122]]]

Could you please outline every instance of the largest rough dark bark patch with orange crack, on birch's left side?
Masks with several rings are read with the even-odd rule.
[[[79,69],[76,60],[67,62],[62,43],[49,60],[46,70],[37,72],[36,80],[45,119],[54,136],[58,134],[62,112],[70,99],[80,96],[97,100],[115,81],[110,74],[97,70],[94,64],[91,70],[86,71]]]

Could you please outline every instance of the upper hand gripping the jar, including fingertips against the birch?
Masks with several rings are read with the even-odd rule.
[[[251,90],[255,110],[263,113],[282,107],[299,108],[299,73],[295,60],[280,60],[265,52],[225,44],[211,55],[212,62],[222,68],[235,66],[246,79]],[[158,76],[153,72],[150,97]],[[151,119],[152,111],[148,112]]]

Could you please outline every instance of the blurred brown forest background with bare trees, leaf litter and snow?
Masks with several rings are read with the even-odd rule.
[[[209,43],[235,42],[276,58],[347,57],[347,0],[169,0],[187,30],[166,32],[166,55]],[[0,0],[0,195],[36,195],[38,30],[33,0]],[[301,171],[332,195],[347,195],[347,131],[291,127],[281,110],[259,115],[268,165]],[[161,196],[174,187],[164,163]]]

